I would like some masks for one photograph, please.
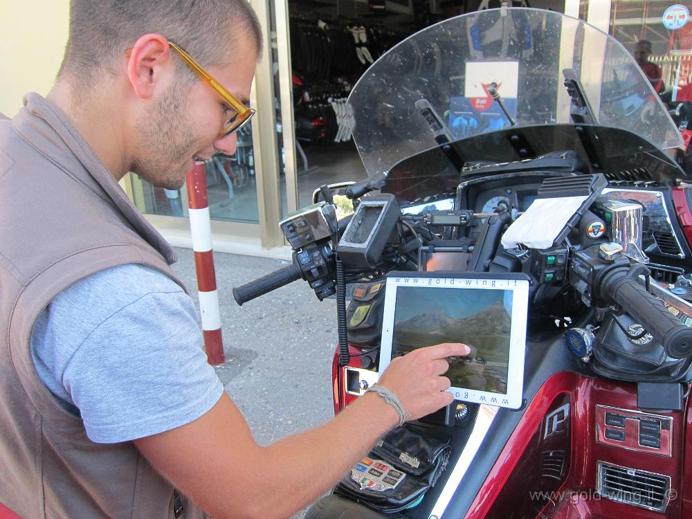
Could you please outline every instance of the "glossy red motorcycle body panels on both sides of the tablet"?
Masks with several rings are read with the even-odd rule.
[[[361,353],[361,349],[353,346],[349,350],[352,355]],[[347,370],[361,369],[360,359],[352,356],[347,367],[339,367],[338,352],[334,356],[335,412],[358,398],[347,391]],[[527,363],[530,362],[531,358],[527,358]],[[483,450],[499,454],[482,477],[480,488],[477,491],[469,488],[466,493],[472,497],[459,499],[468,504],[459,517],[692,517],[692,464],[685,462],[686,453],[692,449],[689,407],[686,399],[680,411],[641,410],[637,406],[635,383],[557,370],[540,383],[525,408],[502,410],[520,417],[506,441],[501,434],[487,435]],[[606,413],[610,419],[617,415],[616,420],[621,420],[623,427],[608,425],[612,422],[606,419]],[[662,424],[659,448],[639,444],[640,428],[646,434],[650,422]],[[608,439],[607,430],[616,431],[625,439]],[[632,502],[608,498],[607,491],[599,486],[599,482],[603,484],[604,468],[605,481],[616,489],[631,485],[633,491],[643,495],[636,498],[638,504],[632,506]],[[633,473],[633,469],[637,472]],[[646,486],[643,479],[646,473],[670,478],[669,490],[659,496],[659,480]],[[621,474],[627,479],[619,478]],[[441,480],[444,485],[444,477]],[[464,481],[459,491],[465,492]],[[663,511],[655,509],[659,498],[665,503]]]

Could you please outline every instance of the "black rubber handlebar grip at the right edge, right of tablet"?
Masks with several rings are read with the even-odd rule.
[[[616,302],[654,336],[673,358],[692,354],[692,328],[677,320],[661,300],[648,293],[633,277],[616,269],[605,274],[601,294]]]

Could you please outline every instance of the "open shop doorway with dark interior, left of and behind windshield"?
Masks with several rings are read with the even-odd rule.
[[[475,11],[482,3],[489,8],[500,6],[499,0],[276,2],[280,33],[277,45],[279,54],[285,55],[283,62],[278,60],[283,78],[279,91],[286,160],[282,186],[286,185],[288,193],[283,200],[284,215],[309,205],[313,190],[324,183],[358,181],[367,176],[345,127],[345,102],[370,64],[417,30]],[[514,3],[518,6],[523,2]],[[533,8],[573,17],[585,19],[588,15],[587,0],[529,3]]]

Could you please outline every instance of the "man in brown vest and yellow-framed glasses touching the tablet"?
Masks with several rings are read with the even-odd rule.
[[[450,403],[444,358],[468,350],[394,359],[381,388],[400,406],[368,393],[258,446],[172,248],[117,183],[177,190],[194,158],[235,152],[257,19],[245,0],[73,0],[70,20],[47,99],[0,120],[0,502],[26,519],[290,516]]]

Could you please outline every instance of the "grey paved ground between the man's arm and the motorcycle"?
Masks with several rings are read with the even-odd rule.
[[[174,270],[197,304],[194,257],[176,249]],[[231,290],[285,266],[266,258],[215,253],[226,363],[217,373],[260,444],[334,416],[331,359],[337,342],[336,302],[320,302],[296,281],[239,307]],[[302,517],[302,513],[295,518]]]

